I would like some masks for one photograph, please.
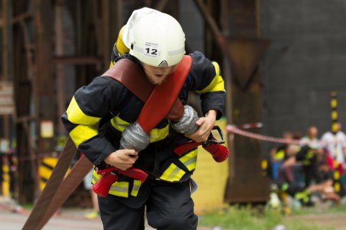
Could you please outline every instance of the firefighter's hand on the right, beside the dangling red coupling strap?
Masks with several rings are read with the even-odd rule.
[[[196,124],[199,126],[196,132],[191,135],[186,135],[195,142],[206,142],[210,135],[210,131],[214,128],[216,121],[217,111],[211,110],[206,113],[206,117],[200,117]]]

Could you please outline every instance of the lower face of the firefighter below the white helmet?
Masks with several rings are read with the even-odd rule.
[[[156,67],[142,63],[142,66],[149,82],[154,85],[159,85],[165,82],[168,75],[176,70],[177,65],[168,67]]]

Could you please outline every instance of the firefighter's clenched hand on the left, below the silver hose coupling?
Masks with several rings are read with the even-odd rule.
[[[104,158],[104,162],[125,171],[131,168],[137,159],[138,152],[134,149],[119,149]]]

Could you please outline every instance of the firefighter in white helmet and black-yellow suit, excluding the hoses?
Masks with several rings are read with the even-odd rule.
[[[172,77],[186,56],[179,22],[150,8],[132,13],[114,47],[111,69],[122,68],[122,59],[130,60],[153,86]],[[193,120],[198,128],[193,133],[184,130],[190,124],[182,118],[163,118],[149,133],[143,132],[137,119],[145,102],[122,83],[104,76],[79,88],[62,115],[73,142],[94,166],[108,164],[121,170],[135,167],[149,174],[143,183],[119,174],[109,194],[98,197],[104,229],[144,229],[145,210],[148,224],[155,229],[197,229],[191,198],[195,184],[190,178],[196,167],[197,148],[182,156],[174,154],[173,149],[189,140],[208,139],[215,120],[223,114],[226,92],[216,62],[198,51],[188,56],[192,64],[178,97],[184,105],[182,117],[190,119],[196,113],[186,105],[188,92],[200,95],[203,116]],[[167,90],[170,92],[170,88]],[[164,103],[156,104],[149,112],[155,117],[163,107]],[[126,148],[127,138],[134,143],[131,149]],[[94,171],[93,184],[98,180],[100,175]]]

